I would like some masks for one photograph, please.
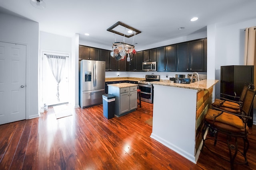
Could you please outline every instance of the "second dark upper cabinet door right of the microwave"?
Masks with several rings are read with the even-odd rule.
[[[176,45],[165,48],[165,71],[176,71]]]

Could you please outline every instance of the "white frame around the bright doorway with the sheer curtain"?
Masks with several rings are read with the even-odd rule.
[[[52,54],[52,55],[65,55],[65,56],[68,56],[69,58],[71,58],[71,53],[68,53],[68,52],[63,52],[63,51],[52,51],[52,50],[45,50],[45,49],[41,49],[40,50],[40,59],[39,59],[39,112],[40,112],[40,105],[43,104],[43,95],[42,95],[42,91],[43,91],[43,87],[42,87],[42,74],[43,74],[43,57],[44,57],[44,54],[47,53],[47,54]],[[70,73],[71,73],[71,61],[69,59],[69,63],[68,63],[68,79],[70,79]],[[69,95],[70,95],[70,81],[68,81],[68,91],[69,91]],[[71,101],[68,101],[69,103]]]

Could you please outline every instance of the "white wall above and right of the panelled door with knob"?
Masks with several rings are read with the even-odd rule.
[[[0,41],[26,45],[26,119],[38,117],[39,24],[0,13]]]

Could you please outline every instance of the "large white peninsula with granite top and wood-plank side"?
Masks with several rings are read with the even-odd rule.
[[[204,114],[212,102],[212,91],[217,82],[151,82],[154,108],[150,137],[196,163],[202,147]]]

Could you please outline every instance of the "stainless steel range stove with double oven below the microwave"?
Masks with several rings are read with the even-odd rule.
[[[146,81],[138,81],[138,88],[140,89],[141,100],[148,103],[153,103],[154,86],[153,81],[160,81],[159,75],[146,75]]]

